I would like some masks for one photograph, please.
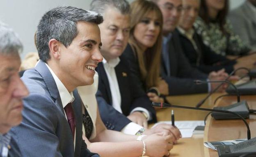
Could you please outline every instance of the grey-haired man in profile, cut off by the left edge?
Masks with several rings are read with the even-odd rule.
[[[9,133],[21,123],[22,98],[28,95],[18,75],[21,51],[16,33],[0,22],[0,157],[21,157],[16,139]]]

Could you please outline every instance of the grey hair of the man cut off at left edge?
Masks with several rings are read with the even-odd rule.
[[[18,55],[22,49],[18,35],[7,24],[0,22],[0,54]]]

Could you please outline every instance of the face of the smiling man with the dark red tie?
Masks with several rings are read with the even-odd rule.
[[[101,36],[98,25],[78,22],[77,31],[78,35],[67,48],[63,44],[59,47],[61,81],[75,87],[93,84],[95,68],[103,60],[99,50]]]

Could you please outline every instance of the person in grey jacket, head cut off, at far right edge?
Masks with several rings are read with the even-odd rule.
[[[246,0],[240,7],[232,10],[228,19],[234,33],[256,51],[256,0]]]

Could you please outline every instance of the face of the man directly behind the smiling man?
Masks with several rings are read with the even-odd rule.
[[[103,13],[104,21],[99,25],[101,29],[101,53],[106,60],[119,57],[129,39],[130,16],[122,15],[117,9],[106,9]]]

